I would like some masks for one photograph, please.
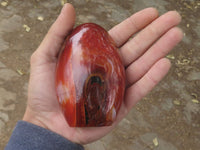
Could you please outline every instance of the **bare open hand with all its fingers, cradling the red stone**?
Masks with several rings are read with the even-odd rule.
[[[125,97],[117,119],[107,127],[71,128],[57,102],[54,80],[58,53],[75,22],[73,6],[65,4],[31,56],[28,104],[23,120],[78,144],[88,144],[102,138],[167,74],[171,64],[165,56],[183,37],[182,31],[176,27],[180,21],[181,17],[176,11],[159,17],[156,9],[146,8],[113,27],[109,34],[120,49],[127,79]],[[134,38],[129,40],[132,36]]]

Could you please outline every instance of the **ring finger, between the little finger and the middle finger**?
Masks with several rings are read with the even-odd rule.
[[[163,35],[143,56],[126,69],[127,83],[139,80],[160,58],[165,57],[183,37],[182,31],[174,27]]]

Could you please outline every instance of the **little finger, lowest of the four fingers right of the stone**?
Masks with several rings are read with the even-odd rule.
[[[160,59],[138,82],[127,88],[125,105],[128,111],[163,79],[170,66],[168,59]]]

